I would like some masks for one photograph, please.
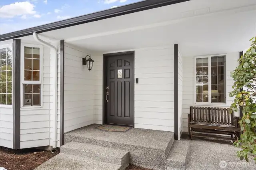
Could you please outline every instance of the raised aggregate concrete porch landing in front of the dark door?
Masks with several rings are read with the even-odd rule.
[[[166,157],[174,142],[174,132],[132,128],[127,132],[105,132],[93,124],[64,134],[64,144],[80,142],[127,150],[130,163],[145,168],[166,168]]]

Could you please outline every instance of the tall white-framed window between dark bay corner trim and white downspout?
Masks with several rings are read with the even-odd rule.
[[[42,46],[22,44],[22,106],[42,106]]]

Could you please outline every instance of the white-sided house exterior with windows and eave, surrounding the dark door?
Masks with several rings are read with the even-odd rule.
[[[0,35],[0,146],[56,148],[63,133],[108,123],[104,56],[126,51],[129,125],[180,139],[190,106],[232,103],[230,71],[255,36],[252,16],[255,0],[146,0]]]

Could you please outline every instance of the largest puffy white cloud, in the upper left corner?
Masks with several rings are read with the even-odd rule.
[[[15,16],[24,16],[36,14],[34,5],[30,2],[15,2],[13,4],[4,5],[0,8],[1,18],[13,18]]]

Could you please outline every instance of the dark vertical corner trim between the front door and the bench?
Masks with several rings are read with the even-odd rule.
[[[178,128],[178,44],[174,44],[174,139],[179,139]]]

